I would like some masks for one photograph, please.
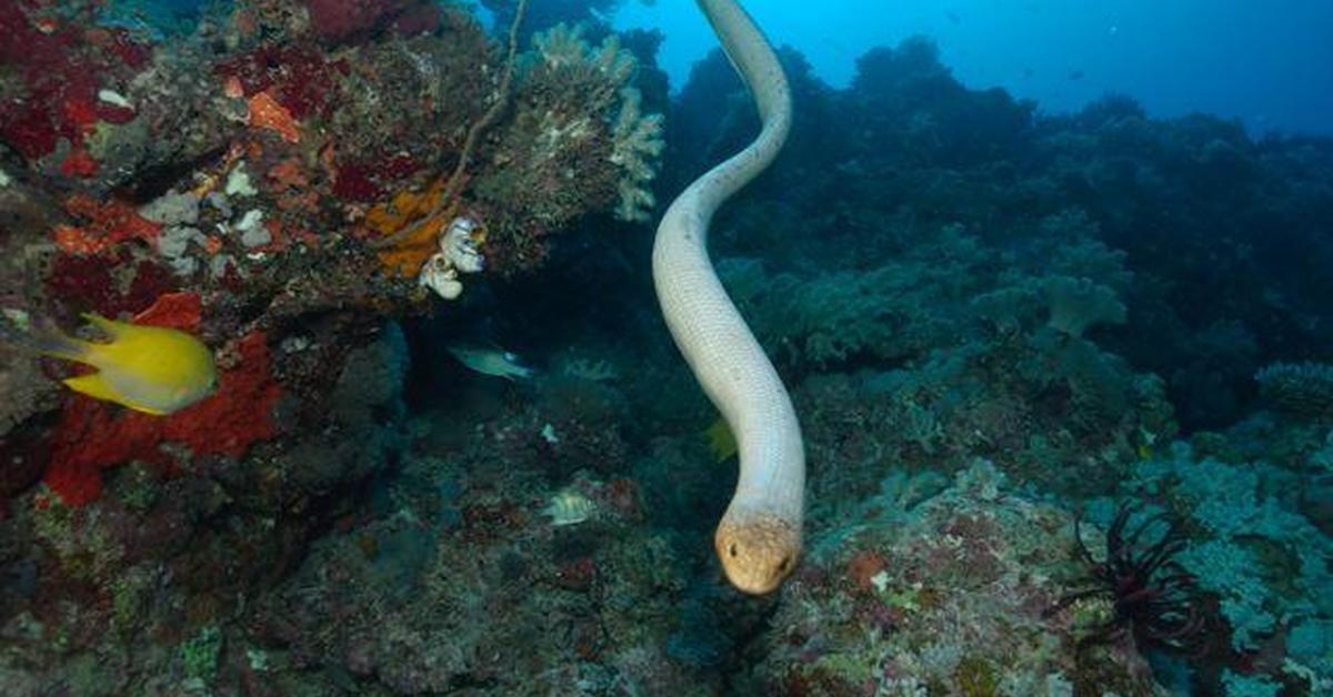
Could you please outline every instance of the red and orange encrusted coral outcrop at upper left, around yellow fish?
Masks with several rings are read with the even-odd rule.
[[[376,249],[364,241],[420,223],[417,219],[432,209],[440,189],[427,188],[417,195],[412,183],[440,181],[431,176],[429,163],[444,160],[459,145],[448,133],[480,117],[476,105],[485,101],[493,85],[484,80],[479,84],[472,76],[493,67],[493,59],[476,21],[449,9],[436,23],[413,24],[407,32],[413,37],[404,39],[392,32],[380,35],[379,29],[389,24],[396,31],[404,29],[403,23],[421,9],[417,4],[311,3],[305,8],[309,31],[345,47],[333,56],[307,43],[299,25],[288,27],[287,36],[256,36],[247,27],[253,19],[249,13],[257,9],[236,8],[229,29],[235,36],[209,48],[184,41],[187,49],[152,52],[151,47],[116,31],[97,29],[101,35],[79,31],[80,23],[96,21],[95,16],[75,15],[55,32],[33,28],[32,23],[41,16],[37,7],[7,5],[0,17],[0,27],[12,37],[33,43],[32,53],[3,56],[7,64],[19,68],[5,73],[4,80],[23,80],[13,88],[28,95],[27,108],[40,109],[40,113],[0,113],[4,139],[32,171],[52,177],[56,191],[73,188],[73,193],[63,196],[68,217],[45,229],[20,228],[5,239],[11,249],[44,237],[55,247],[49,261],[27,256],[25,265],[8,272],[24,284],[44,283],[43,291],[7,303],[56,317],[88,311],[115,316],[143,312],[168,292],[192,293],[203,305],[192,320],[193,328],[207,325],[211,344],[233,354],[231,362],[239,365],[224,370],[215,398],[163,422],[115,414],[87,401],[75,400],[65,406],[52,436],[47,481],[69,501],[87,502],[96,496],[95,472],[101,468],[133,458],[177,460],[161,456],[161,442],[183,446],[193,456],[241,457],[249,444],[271,438],[275,430],[267,412],[277,400],[279,388],[268,377],[267,344],[283,337],[260,327],[271,324],[273,317],[283,316],[291,323],[300,313],[325,308],[420,305],[424,295],[416,284],[401,281],[415,281],[432,253],[449,267],[431,267],[432,279],[440,276],[433,287],[445,297],[455,297],[459,288],[456,277],[444,276],[481,271],[480,256],[471,249],[481,239],[449,236],[451,217],[443,217],[435,229],[421,225],[425,233],[420,237],[429,251],[419,257],[400,248]],[[205,29],[201,25],[197,31]],[[416,36],[420,32],[427,35]],[[641,187],[651,179],[644,156],[656,155],[649,151],[657,121],[637,112],[637,93],[629,87],[633,59],[616,47],[615,39],[607,41],[599,52],[576,56],[581,63],[527,71],[520,93],[525,95],[525,109],[560,112],[577,123],[605,127],[585,133],[577,144],[560,147],[563,152],[591,148],[619,153],[615,161],[608,155],[585,163],[580,180],[604,179],[608,185],[623,180]],[[537,44],[539,56],[544,45]],[[91,67],[76,68],[80,61],[91,61]],[[443,65],[448,71],[441,71]],[[175,76],[187,69],[212,76],[212,93],[191,87],[180,91],[175,103],[160,96],[140,100],[155,91],[175,91]],[[405,89],[399,79],[405,80]],[[573,84],[565,84],[569,81]],[[112,83],[132,88],[125,89],[125,96],[97,92],[99,84]],[[555,85],[563,92],[552,93]],[[604,96],[576,103],[573,91],[583,88]],[[357,96],[363,99],[347,99]],[[400,117],[392,128],[376,128],[380,124],[373,121],[340,119],[340,113],[365,109],[367,99],[383,104],[379,100],[385,97],[404,101],[389,112],[415,115],[413,120]],[[129,109],[124,104],[140,107]],[[463,108],[449,108],[451,104]],[[144,155],[117,160],[117,167],[103,173],[85,151],[99,124],[121,127],[139,120],[151,124],[155,132],[164,129],[167,139],[189,140],[196,137],[193,131],[175,133],[165,131],[167,125],[183,120],[208,124],[219,112],[228,115],[231,124],[216,128],[207,143],[160,144],[164,152],[176,152],[179,160],[171,164]],[[452,127],[445,123],[441,128],[432,119],[437,113],[453,119]],[[612,117],[616,113],[621,115],[619,121]],[[528,137],[521,135],[532,125],[525,119],[520,109],[512,120],[496,124],[505,133],[501,141]],[[436,135],[441,132],[444,137]],[[532,133],[536,135],[540,131]],[[388,151],[397,148],[391,144],[412,141],[421,147]],[[61,152],[68,145],[68,153],[57,153],[57,145]],[[63,163],[57,169],[83,164],[77,172],[60,173],[52,169],[48,156]],[[373,160],[384,165],[372,171],[359,164]],[[525,177],[524,172],[543,172],[547,167],[523,157],[513,161],[531,167],[505,164],[499,169],[507,176]],[[91,164],[84,167],[87,163]],[[479,183],[491,176],[485,169],[471,175]],[[104,193],[131,179],[136,180],[135,189]],[[145,187],[153,189],[151,195],[145,195]],[[565,188],[568,193],[563,193]],[[393,196],[383,193],[393,189],[397,189]],[[524,225],[519,220],[544,217],[544,231],[553,232],[576,216],[611,208],[607,197],[583,196],[575,181],[547,181],[543,191],[544,197],[565,201],[559,216],[547,216],[509,197],[481,196],[473,201],[469,191],[461,193],[464,205],[471,208],[475,203],[493,220],[491,240],[500,251],[497,256],[505,259],[504,249],[509,249],[536,265],[540,255],[516,252],[505,241],[512,225]],[[29,196],[36,197],[37,192]],[[345,200],[340,201],[340,196]],[[648,197],[643,192],[636,196],[640,203]],[[367,200],[383,203],[368,211]],[[321,232],[312,232],[316,229]],[[437,233],[444,247],[436,245]],[[404,247],[411,249],[413,244]],[[368,273],[377,261],[387,273]],[[313,269],[319,269],[323,285],[333,284],[332,292],[319,293],[315,288],[293,292],[293,280]],[[337,287],[336,280],[349,275],[360,276],[361,283]],[[288,296],[301,297],[300,309],[291,307]],[[264,315],[256,315],[255,309],[237,312],[247,307],[269,309]],[[21,381],[24,373],[12,374]],[[247,416],[241,416],[243,408],[248,409]]]

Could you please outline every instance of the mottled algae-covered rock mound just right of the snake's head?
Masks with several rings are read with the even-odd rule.
[[[1109,606],[1057,609],[1080,574],[1069,513],[1005,492],[985,461],[942,493],[909,498],[874,501],[812,541],[754,689],[1164,694],[1132,645],[1080,645]]]

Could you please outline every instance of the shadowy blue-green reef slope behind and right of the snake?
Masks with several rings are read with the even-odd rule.
[[[753,128],[726,104],[740,85],[725,72],[721,56],[696,69],[678,113],[669,113],[678,128],[668,133],[668,153],[712,157]],[[1245,188],[1257,176],[1304,183],[1297,187],[1309,187],[1309,196],[1297,196],[1318,208],[1313,192],[1325,191],[1328,143],[1252,141],[1209,117],[1154,121],[1117,97],[1069,119],[1034,119],[1030,105],[1002,93],[964,89],[921,41],[872,52],[845,91],[804,95],[805,109],[864,128],[832,133],[798,120],[796,152],[778,163],[768,189],[724,212],[716,244],[730,255],[724,283],[798,384],[814,534],[836,542],[838,520],[892,509],[862,504],[881,486],[905,486],[881,484],[885,462],[924,477],[956,472],[978,454],[1070,506],[1114,493],[1097,498],[1102,525],[1112,524],[1113,500],[1142,500],[1153,513],[1161,509],[1152,504],[1166,505],[1181,521],[1174,558],[1197,578],[1193,606],[1209,638],[1190,642],[1162,681],[1184,674],[1172,689],[1196,693],[1242,684],[1258,693],[1318,693],[1328,680],[1316,666],[1324,665],[1318,649],[1302,644],[1297,658],[1284,653],[1282,638],[1300,626],[1304,640],[1304,628],[1326,617],[1313,590],[1326,573],[1317,558],[1329,529],[1328,506],[1318,502],[1329,461],[1320,366],[1261,372],[1264,402],[1254,398],[1254,373],[1265,356],[1324,354],[1320,327],[1330,308],[1310,293],[1306,271],[1317,265],[1310,259],[1326,259],[1326,245],[1320,224],[1297,216],[1284,217],[1290,229],[1270,229],[1293,245],[1286,252],[1249,256],[1269,244],[1253,228],[1228,237],[1234,244],[1222,257],[1208,249],[1218,229],[1236,228],[1228,215],[1257,221],[1286,209],[1289,201]],[[726,132],[692,129],[701,117]],[[1210,197],[1169,220],[1153,208],[1204,196],[1202,169],[1185,163],[1224,155],[1234,179],[1220,185],[1234,201]],[[1088,157],[1097,161],[1092,169],[1080,164]],[[1312,161],[1325,164],[1304,169]],[[1157,244],[1149,229],[1170,229],[1170,240]],[[1313,256],[1293,260],[1297,247]],[[1226,281],[1205,293],[1178,279]],[[1261,472],[1257,482],[1186,457],[1193,465],[1173,470],[1198,469],[1189,484],[1142,484],[1153,466],[1165,468],[1154,462],[1178,457],[1169,444],[1182,426],[1228,424],[1261,404],[1276,413],[1225,438],[1197,440],[1228,466]],[[706,412],[693,409],[706,424]],[[1277,496],[1296,473],[1308,485]],[[1213,493],[1190,494],[1205,477]],[[1254,534],[1249,544],[1200,529],[1190,502],[1198,496],[1230,501],[1218,512],[1234,520],[1229,534]],[[1284,526],[1289,536],[1277,534]],[[1082,626],[1114,617],[1113,606],[1105,610]],[[856,674],[878,677],[864,664]],[[928,689],[920,676],[909,678],[884,689]]]

